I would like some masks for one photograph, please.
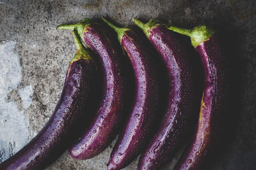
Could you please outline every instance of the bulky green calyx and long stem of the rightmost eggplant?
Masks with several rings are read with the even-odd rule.
[[[209,39],[215,32],[214,30],[206,27],[205,25],[199,25],[193,29],[181,29],[178,27],[170,26],[168,27],[168,29],[189,36],[191,38],[191,44],[194,47]]]

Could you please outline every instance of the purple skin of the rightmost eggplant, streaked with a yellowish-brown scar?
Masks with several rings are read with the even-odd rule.
[[[220,39],[213,34],[195,47],[204,66],[204,95],[196,133],[175,169],[198,169],[220,145],[221,127],[227,113],[229,67]],[[221,50],[222,49],[222,50]]]

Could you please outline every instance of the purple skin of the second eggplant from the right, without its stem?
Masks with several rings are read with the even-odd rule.
[[[150,145],[141,153],[138,169],[159,169],[183,143],[189,118],[195,114],[195,71],[189,55],[175,34],[164,25],[149,31],[148,39],[161,54],[168,72],[168,102],[164,117]]]

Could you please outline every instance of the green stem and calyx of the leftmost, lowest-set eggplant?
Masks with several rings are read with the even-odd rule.
[[[76,44],[77,52],[74,55],[74,57],[70,60],[70,65],[74,61],[79,60],[79,59],[92,60],[92,57],[90,56],[90,52],[88,52],[88,50],[86,50],[86,48],[84,48],[84,46],[79,38],[79,34],[78,34],[76,28],[74,28],[72,34],[73,34],[74,41]]]

